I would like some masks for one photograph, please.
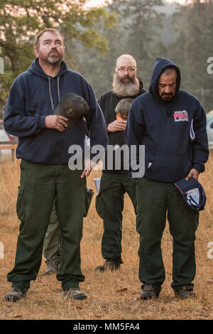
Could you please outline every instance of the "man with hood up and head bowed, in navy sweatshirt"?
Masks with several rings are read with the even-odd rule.
[[[171,286],[175,296],[195,297],[192,281],[199,212],[185,203],[174,183],[182,178],[197,180],[209,151],[204,109],[196,97],[180,90],[175,63],[157,58],[149,92],[131,105],[125,135],[130,150],[132,145],[145,146],[145,173],[138,178],[137,188],[141,299],[158,297],[165,280],[160,243],[166,213],[173,236]]]

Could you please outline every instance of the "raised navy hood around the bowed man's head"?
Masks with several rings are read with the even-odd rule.
[[[153,68],[153,72],[152,72],[152,77],[151,77],[151,82],[149,85],[149,92],[151,93],[151,95],[153,95],[154,97],[157,97],[158,99],[160,99],[159,94],[158,94],[158,80],[160,75],[162,74],[162,72],[165,70],[165,68],[175,68],[177,71],[177,86],[176,86],[176,91],[175,91],[175,95],[178,93],[178,91],[180,90],[180,69],[178,68],[177,65],[175,65],[175,63],[173,63],[171,60],[166,59],[166,58],[156,58],[156,63],[154,65]]]

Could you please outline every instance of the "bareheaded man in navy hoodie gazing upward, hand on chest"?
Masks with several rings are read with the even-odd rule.
[[[83,300],[87,295],[79,287],[84,281],[80,241],[86,176],[94,163],[87,159],[82,170],[69,168],[70,146],[77,144],[84,152],[85,126],[81,117],[66,129],[67,118],[53,114],[60,97],[72,92],[89,105],[85,118],[91,147],[99,144],[107,148],[107,129],[92,87],[80,74],[68,70],[62,61],[65,52],[62,34],[53,28],[41,31],[35,37],[34,51],[36,58],[31,67],[13,82],[4,117],[6,131],[18,136],[16,157],[21,158],[17,199],[21,225],[15,266],[8,274],[13,290],[5,298],[18,301],[25,297],[31,281],[36,279],[56,197],[62,234],[62,260],[57,279],[62,281],[64,296]]]

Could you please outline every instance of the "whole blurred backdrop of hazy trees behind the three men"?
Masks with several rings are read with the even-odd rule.
[[[96,9],[87,3],[1,0],[1,109],[13,79],[33,61],[35,33],[50,26],[64,34],[67,65],[86,77],[97,98],[111,90],[116,58],[130,53],[146,89],[155,58],[166,57],[180,67],[181,88],[197,96],[206,112],[213,109],[213,75],[207,73],[207,59],[213,56],[213,0],[186,1],[185,6],[165,0],[111,0]]]

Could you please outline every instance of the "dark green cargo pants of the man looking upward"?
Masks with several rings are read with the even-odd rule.
[[[53,200],[62,235],[62,259],[57,279],[62,289],[79,286],[81,271],[80,241],[86,180],[82,171],[70,171],[67,165],[44,165],[21,161],[17,215],[21,220],[14,268],[8,274],[13,287],[29,288],[40,269],[43,240],[50,221]]]

